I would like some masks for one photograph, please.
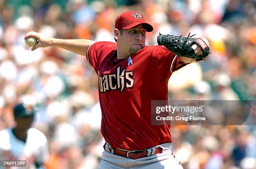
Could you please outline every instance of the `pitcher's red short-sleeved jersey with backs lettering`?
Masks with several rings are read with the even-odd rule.
[[[172,72],[187,65],[164,46],[145,46],[117,59],[117,44],[96,42],[87,60],[99,80],[101,133],[114,148],[148,149],[172,142],[168,125],[151,125],[151,100],[168,100]]]

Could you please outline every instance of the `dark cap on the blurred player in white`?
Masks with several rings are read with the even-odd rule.
[[[26,103],[18,103],[13,108],[13,116],[15,117],[28,117],[28,116],[34,116],[36,114],[35,109]]]

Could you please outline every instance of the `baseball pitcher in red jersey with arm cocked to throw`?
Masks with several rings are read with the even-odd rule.
[[[159,35],[159,45],[146,46],[153,27],[141,13],[129,11],[115,20],[113,42],[63,40],[29,32],[32,50],[55,46],[86,55],[98,76],[105,151],[99,169],[181,169],[172,153],[168,125],[151,125],[151,100],[168,100],[172,73],[209,53],[204,38]]]

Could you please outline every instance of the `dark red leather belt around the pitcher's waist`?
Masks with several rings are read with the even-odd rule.
[[[105,148],[105,146],[104,146],[104,148]],[[140,159],[140,158],[148,156],[148,150],[124,151],[124,150],[120,150],[120,149],[115,149],[113,147],[111,147],[111,148],[114,151],[113,154],[118,155],[118,156],[127,157],[128,159]],[[157,147],[154,154],[162,153],[162,150],[163,149],[161,147]],[[151,155],[154,155],[154,154],[151,154]]]

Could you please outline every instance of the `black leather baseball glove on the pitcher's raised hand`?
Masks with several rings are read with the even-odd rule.
[[[190,35],[190,33],[189,33]],[[163,45],[172,53],[175,53],[179,56],[184,56],[187,58],[193,58],[196,61],[205,60],[206,56],[210,53],[209,46],[200,38],[192,38],[192,36],[173,36],[173,35],[162,35],[159,33],[157,37],[158,45]],[[197,55],[192,45],[197,44],[201,50],[202,55]]]

